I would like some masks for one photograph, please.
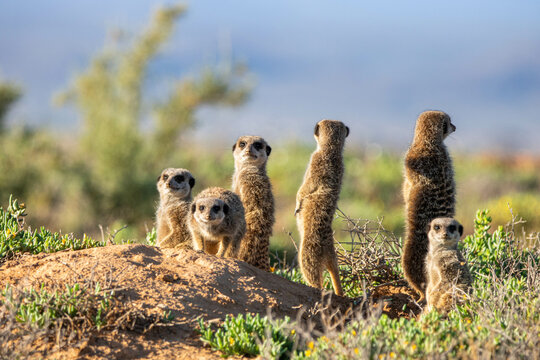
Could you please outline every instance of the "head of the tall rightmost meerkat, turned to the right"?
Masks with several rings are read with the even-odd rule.
[[[425,142],[426,139],[442,142],[448,135],[456,131],[450,116],[442,111],[424,111],[416,121],[415,140]]]

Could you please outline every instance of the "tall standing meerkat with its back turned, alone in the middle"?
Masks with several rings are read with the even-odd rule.
[[[349,128],[341,121],[322,120],[315,126],[317,149],[296,195],[296,221],[300,233],[298,260],[304,278],[322,289],[328,269],[336,294],[342,296],[339,267],[334,248],[332,220],[343,179],[343,147]]]

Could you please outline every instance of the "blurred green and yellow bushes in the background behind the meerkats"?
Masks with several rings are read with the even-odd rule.
[[[26,202],[27,221],[54,231],[99,237],[99,225],[117,239],[143,239],[154,222],[155,179],[165,167],[184,167],[207,186],[230,187],[230,146],[194,143],[190,130],[205,106],[240,106],[253,88],[243,64],[206,67],[176,81],[174,91],[148,103],[143,88],[149,62],[167,41],[181,6],[157,11],[136,37],[116,36],[55,101],[73,106],[83,119],[78,134],[61,136],[40,128],[6,126],[4,119],[24,90],[0,79],[0,200],[10,194]],[[346,122],[346,119],[342,119]],[[314,119],[314,122],[317,119]],[[413,126],[413,120],[408,127]],[[264,134],[260,134],[264,136]],[[231,144],[232,145],[232,144]],[[295,194],[315,142],[271,144],[268,171],[274,186],[277,222],[272,248],[294,249]],[[452,149],[450,149],[452,151]],[[339,208],[352,218],[384,218],[387,229],[403,232],[402,154],[349,143]],[[494,224],[514,214],[540,229],[540,158],[453,154],[458,212],[467,232],[479,208],[491,209]],[[340,220],[336,236],[345,240]]]

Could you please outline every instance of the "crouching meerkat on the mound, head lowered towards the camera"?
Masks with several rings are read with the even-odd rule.
[[[201,191],[191,203],[188,227],[195,250],[237,258],[246,232],[240,197],[219,187]]]

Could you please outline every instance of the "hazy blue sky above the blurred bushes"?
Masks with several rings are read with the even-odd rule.
[[[9,122],[76,131],[52,97],[84,70],[113,29],[139,33],[171,2],[0,0],[0,77],[24,97]],[[404,150],[424,110],[450,114],[450,148],[540,154],[538,1],[210,1],[187,13],[146,79],[148,97],[229,53],[255,87],[239,108],[198,112],[195,138],[312,141],[343,121],[349,143]]]

